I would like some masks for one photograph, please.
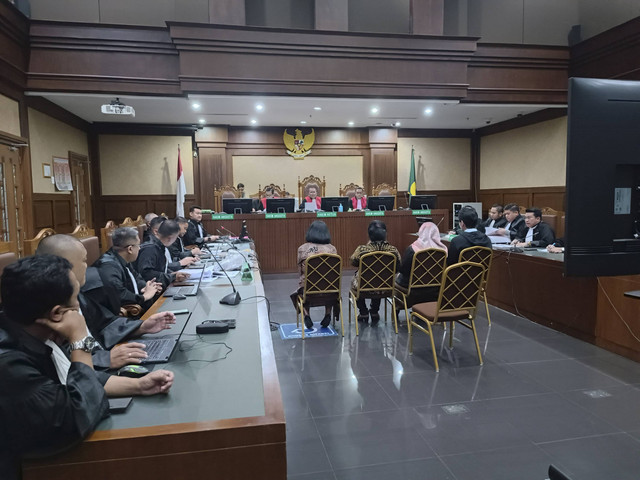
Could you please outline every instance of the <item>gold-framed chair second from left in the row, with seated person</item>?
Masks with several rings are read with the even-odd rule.
[[[393,295],[396,279],[396,256],[391,252],[370,252],[360,257],[358,265],[358,288],[349,289],[349,325],[351,325],[351,307],[356,319],[356,335],[359,335],[356,301],[360,298],[391,298],[393,323],[398,333],[396,300]],[[384,302],[384,321],[387,321],[387,302]]]

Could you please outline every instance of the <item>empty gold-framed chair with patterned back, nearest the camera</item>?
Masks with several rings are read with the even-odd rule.
[[[483,364],[474,319],[478,310],[478,300],[484,276],[485,268],[480,263],[460,262],[453,264],[447,267],[442,274],[438,301],[419,303],[413,306],[409,322],[413,328],[429,335],[436,372],[440,371],[440,366],[431,329],[431,326],[436,323],[449,322],[449,348],[453,348],[454,322],[471,330],[476,343],[478,360],[480,365]],[[414,318],[419,321],[414,321]],[[409,329],[409,353],[411,355],[413,354],[413,328]]]

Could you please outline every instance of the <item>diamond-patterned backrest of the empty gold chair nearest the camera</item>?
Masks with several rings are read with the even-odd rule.
[[[483,279],[484,267],[480,263],[460,262],[447,267],[442,275],[436,315],[466,310],[473,318]]]

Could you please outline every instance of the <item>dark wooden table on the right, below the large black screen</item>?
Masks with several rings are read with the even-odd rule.
[[[640,337],[640,302],[624,296],[640,288],[640,275],[566,277],[563,257],[494,250],[489,303],[640,361],[629,331]]]

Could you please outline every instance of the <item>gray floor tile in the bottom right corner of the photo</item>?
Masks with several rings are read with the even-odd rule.
[[[637,480],[640,477],[640,444],[624,433],[543,443],[540,448],[571,478]]]

